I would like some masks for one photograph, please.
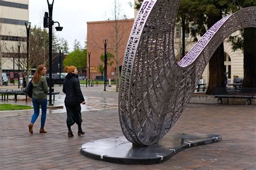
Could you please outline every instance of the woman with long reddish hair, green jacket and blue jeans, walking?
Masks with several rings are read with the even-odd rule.
[[[47,110],[47,93],[49,88],[46,82],[46,66],[39,65],[36,69],[36,73],[33,75],[32,78],[32,103],[34,113],[32,115],[30,124],[29,124],[29,132],[33,134],[33,124],[36,122],[37,117],[39,116],[39,109],[41,107],[42,115],[41,115],[41,128],[39,133],[47,133],[44,129],[44,124],[46,120],[46,110]]]

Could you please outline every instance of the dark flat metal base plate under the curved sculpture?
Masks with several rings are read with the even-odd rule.
[[[167,140],[150,146],[133,146],[124,136],[91,140],[80,147],[85,157],[116,164],[159,164],[169,160],[186,148],[216,143],[221,140],[217,134],[171,134]]]

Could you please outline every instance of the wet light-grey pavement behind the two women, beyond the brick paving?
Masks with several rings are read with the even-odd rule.
[[[82,90],[82,93],[86,101],[86,104],[81,105],[81,111],[108,110],[108,109],[116,109],[118,107],[118,93],[116,92],[116,86],[107,87],[106,88],[107,91],[104,91],[103,85],[99,85],[95,87],[86,87],[82,85],[80,88]],[[18,90],[16,86],[3,86],[0,89],[1,90],[4,90],[4,89]],[[53,96],[52,96],[53,108],[58,106],[63,106],[63,109],[48,109],[47,110],[48,114],[54,114],[54,113],[66,111],[65,104],[64,104],[65,94],[62,92],[62,86],[55,86],[54,90],[58,91],[59,94],[55,95],[55,101],[53,101]],[[32,106],[32,102],[30,100],[28,100],[27,102],[25,101],[24,95],[18,95],[17,102],[14,101],[14,96],[9,96],[9,100],[1,101],[1,102]],[[49,103],[49,96],[48,96],[48,103]],[[31,114],[32,110],[12,110],[12,111],[5,111],[5,112],[6,113],[0,114],[0,117],[28,115],[28,114]]]

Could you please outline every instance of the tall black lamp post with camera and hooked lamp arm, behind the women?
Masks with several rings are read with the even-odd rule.
[[[49,3],[49,0],[47,0],[48,3],[48,10],[49,10],[49,16],[48,12],[44,13],[44,28],[49,28],[49,105],[52,104],[52,25],[55,23],[58,23],[58,26],[55,27],[56,31],[62,31],[63,27],[59,26],[59,22],[54,22],[52,20],[52,10],[53,10],[53,3],[54,0],[52,0],[52,4]]]

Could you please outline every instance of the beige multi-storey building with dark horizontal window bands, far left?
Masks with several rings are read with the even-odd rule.
[[[18,53],[17,42],[26,48],[25,22],[29,20],[29,0],[0,1],[0,55],[2,71],[13,71],[14,60],[6,57],[7,53]],[[1,58],[0,56],[0,58]],[[15,64],[15,70],[18,70]]]

